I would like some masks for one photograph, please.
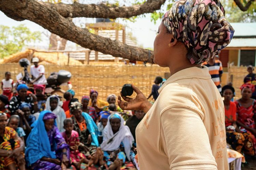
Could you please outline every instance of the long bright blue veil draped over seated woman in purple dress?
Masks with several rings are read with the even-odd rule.
[[[26,161],[28,165],[32,165],[42,157],[56,158],[55,152],[51,151],[51,144],[45,130],[44,117],[52,115],[49,111],[42,111],[31,127],[33,127],[27,138],[27,149],[25,150]],[[57,126],[56,120],[54,125]]]

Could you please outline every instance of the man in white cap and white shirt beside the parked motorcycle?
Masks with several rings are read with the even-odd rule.
[[[32,75],[32,81],[30,81],[34,88],[37,87],[37,85],[43,85],[44,89],[46,86],[46,78],[44,75],[45,69],[43,65],[38,65],[39,62],[39,58],[38,57],[33,57],[32,59],[32,63],[34,63],[34,65],[32,65],[30,67],[30,74]],[[43,94],[44,94],[44,89],[43,89]]]

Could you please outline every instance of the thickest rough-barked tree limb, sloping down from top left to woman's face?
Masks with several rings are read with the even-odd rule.
[[[71,18],[62,17],[56,10],[38,1],[1,0],[0,10],[5,15],[15,16],[13,19],[24,18],[35,22],[50,32],[82,47],[110,54],[114,57],[153,63],[153,51],[128,46],[120,41],[91,34],[87,29],[75,26]]]

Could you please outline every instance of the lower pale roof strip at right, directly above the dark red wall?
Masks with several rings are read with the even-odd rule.
[[[256,38],[233,38],[227,47],[256,47]]]

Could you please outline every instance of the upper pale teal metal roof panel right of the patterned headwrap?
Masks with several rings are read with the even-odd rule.
[[[235,30],[234,37],[256,36],[256,22],[233,22],[230,24]]]

